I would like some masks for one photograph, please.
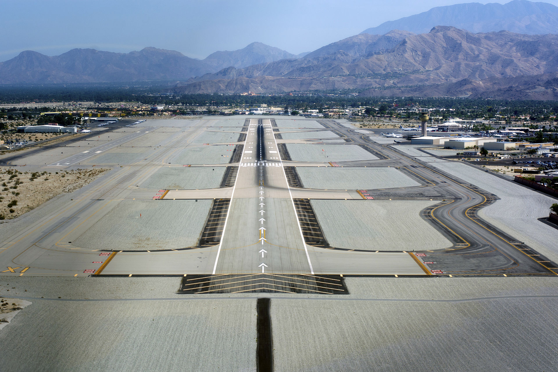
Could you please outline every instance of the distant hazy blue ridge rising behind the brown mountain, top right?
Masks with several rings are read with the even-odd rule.
[[[437,25],[454,26],[475,33],[502,30],[531,35],[558,33],[558,7],[527,0],[514,0],[507,4],[455,4],[384,22],[362,33],[376,35],[389,30],[425,33]]]

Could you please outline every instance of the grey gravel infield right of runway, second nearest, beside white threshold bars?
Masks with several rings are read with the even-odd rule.
[[[396,168],[296,167],[296,171],[309,189],[368,190],[420,185]]]

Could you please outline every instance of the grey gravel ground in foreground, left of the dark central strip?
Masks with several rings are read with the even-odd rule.
[[[13,371],[255,371],[255,307],[37,301],[0,332],[0,361]]]

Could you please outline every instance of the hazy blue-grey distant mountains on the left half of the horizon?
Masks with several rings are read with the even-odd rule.
[[[229,66],[241,68],[296,58],[294,54],[261,42],[235,51],[218,51],[204,60],[154,47],[129,53],[72,49],[59,56],[28,50],[0,62],[0,84],[182,80]]]

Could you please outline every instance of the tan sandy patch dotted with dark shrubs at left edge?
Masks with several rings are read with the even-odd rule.
[[[16,218],[62,192],[72,192],[97,178],[103,168],[70,171],[21,172],[16,168],[0,171],[0,216]],[[15,177],[14,177],[15,176]],[[36,178],[35,178],[36,177]],[[11,179],[10,179],[11,178]],[[31,178],[33,180],[31,181]],[[6,186],[3,186],[3,185]],[[16,205],[13,200],[17,200]],[[13,210],[11,212],[10,210]]]

